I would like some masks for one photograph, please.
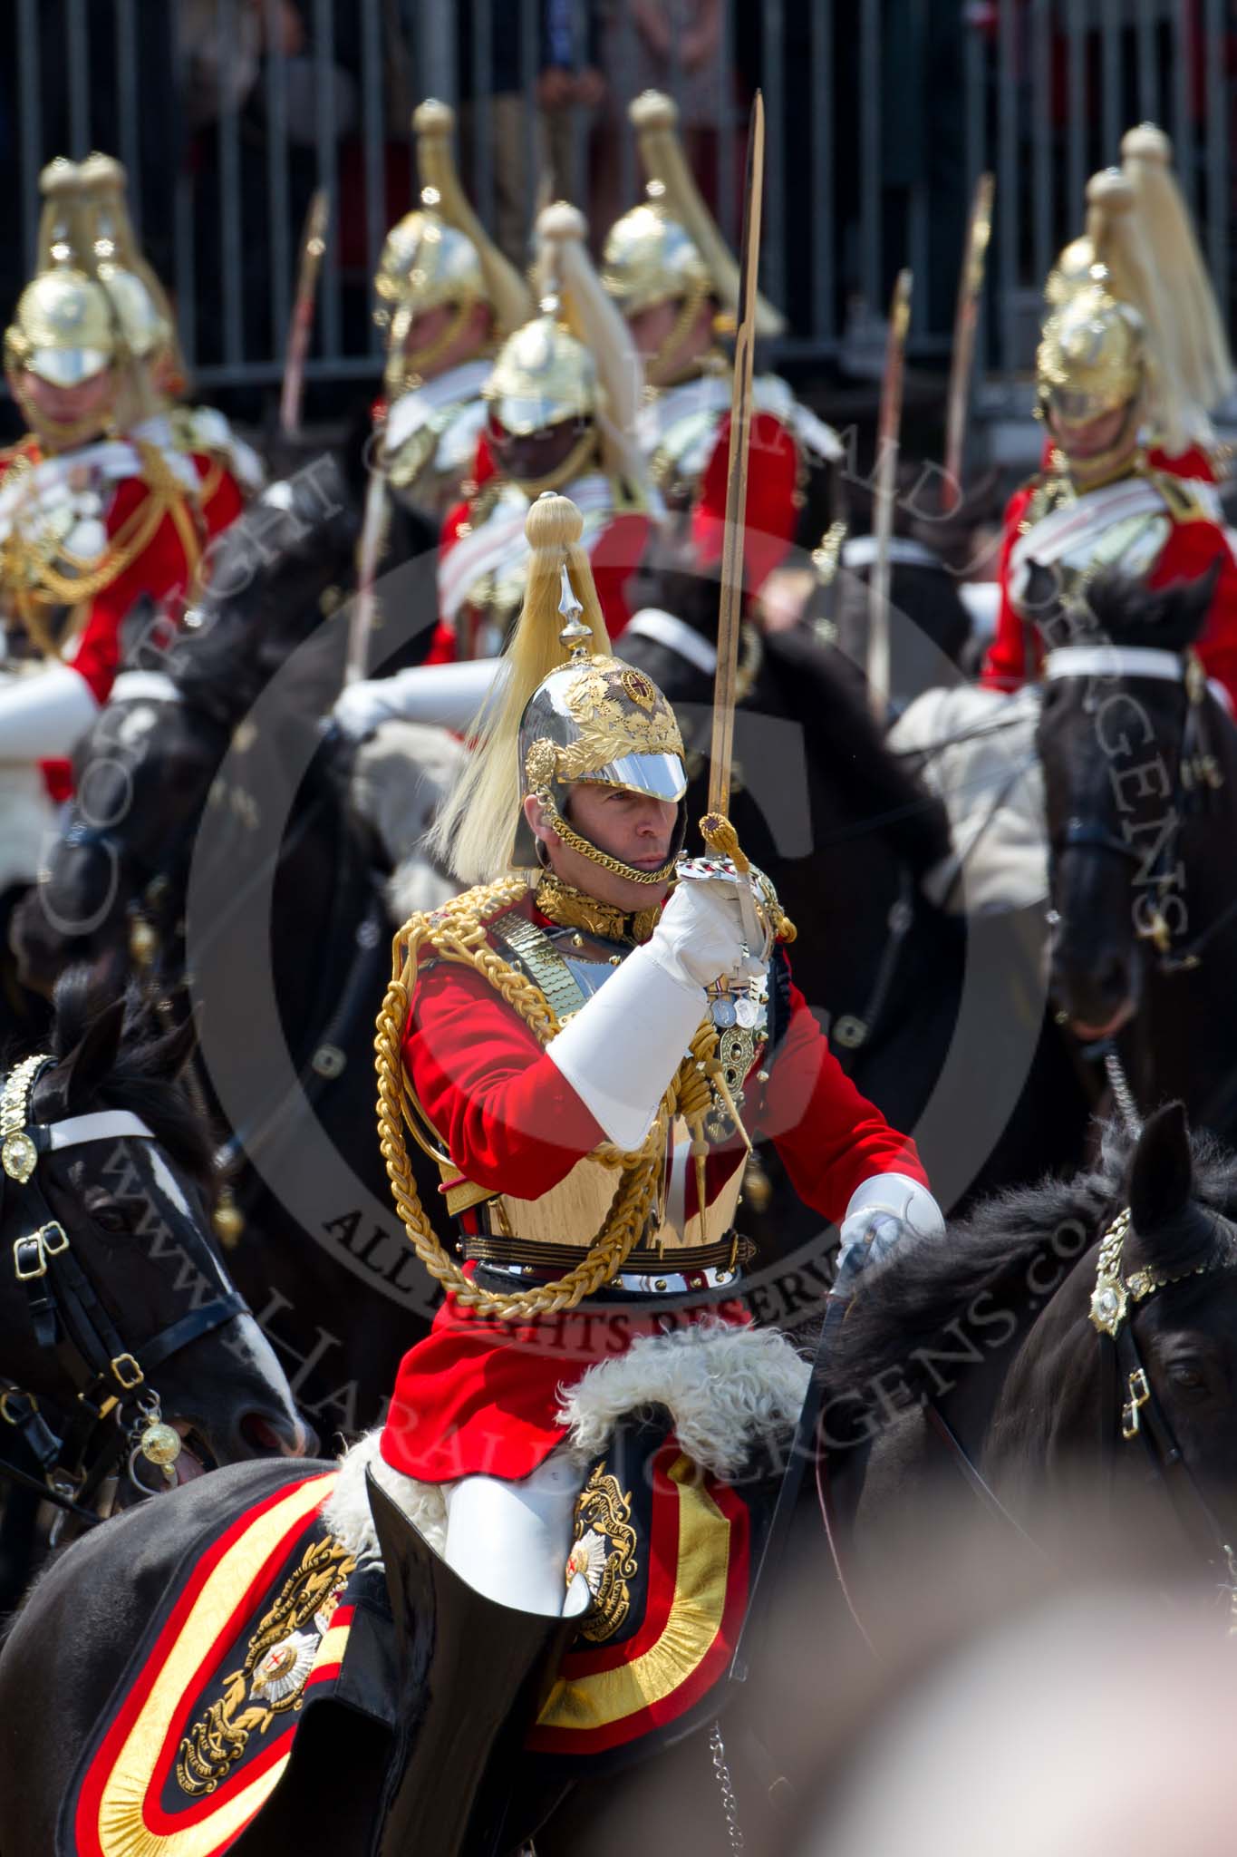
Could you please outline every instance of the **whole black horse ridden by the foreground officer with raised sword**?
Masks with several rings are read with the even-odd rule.
[[[996,1198],[944,1242],[901,1248],[879,1276],[864,1281],[829,1354],[822,1434],[831,1463],[870,1456],[862,1504],[885,1515],[896,1508],[907,1539],[914,1539],[920,1515],[916,1495],[933,1474],[955,1478],[963,1452],[972,1476],[983,1474],[992,1487],[988,1508],[1005,1504],[998,1521],[1011,1530],[1035,1528],[1039,1506],[1065,1478],[1066,1465],[1094,1482],[1096,1467],[1111,1461],[1116,1487],[1142,1482],[1154,1467],[1165,1480],[1168,1534],[1180,1528],[1168,1491],[1180,1491],[1187,1532],[1180,1536],[1178,1564],[1209,1588],[1217,1577],[1230,1582],[1222,1543],[1231,1539],[1237,1521],[1237,1419],[1226,1396],[1237,1367],[1233,1211],[1237,1164],[1215,1149],[1191,1153],[1185,1118],[1174,1107],[1148,1125],[1133,1151],[1113,1136],[1094,1174]],[[1116,1330],[1107,1339],[1089,1318],[1102,1240],[1107,1268],[1100,1289],[1128,1285],[1120,1320],[1115,1304],[1096,1304]],[[1111,1382],[1103,1369],[1107,1346],[1116,1365]],[[927,1396],[950,1426],[953,1447],[942,1445],[938,1428],[927,1421],[922,1404]],[[855,1448],[848,1452],[848,1445]],[[0,1655],[4,1720],[9,1721],[13,1697],[30,1703],[0,1738],[0,1798],[13,1799],[4,1825],[6,1857],[69,1848],[63,1833],[56,1844],[59,1801],[70,1794],[74,1768],[130,1658],[134,1634],[180,1590],[200,1552],[202,1528],[223,1536],[241,1506],[258,1497],[276,1499],[287,1476],[286,1469],[243,1467],[180,1491],[165,1504],[167,1525],[158,1538],[148,1513],[126,1517],[78,1543],[35,1590]],[[499,1621],[490,1621],[493,1634],[482,1643],[445,1630],[434,1645],[441,1593],[425,1571],[427,1551],[410,1552],[399,1538],[401,1528],[412,1534],[410,1525],[378,1497],[375,1504],[389,1614],[378,1601],[367,1608],[363,1658],[371,1681],[378,1681],[382,1655],[389,1660],[382,1681],[399,1701],[397,1714],[388,1720],[386,1738],[365,1738],[354,1718],[349,1727],[347,1710],[332,1716],[330,1708],[317,1714],[321,1727],[312,1734],[310,1712],[302,1729],[310,1757],[295,1764],[293,1753],[282,1788],[239,1842],[245,1853],[297,1848],[297,1837],[312,1844],[315,1825],[332,1850],[356,1857],[386,1851],[395,1848],[397,1831],[417,1822],[417,1801],[423,1811],[428,1801],[447,1801],[451,1825],[432,1820],[434,1850],[514,1848],[462,1842],[467,1759],[454,1747],[449,1760],[443,1753],[445,1772],[427,1770],[432,1712],[423,1679],[428,1656],[447,1645],[456,1679],[467,1675],[471,1684],[477,1723],[486,1721],[503,1695],[516,1625],[504,1636]],[[786,1697],[777,1701],[779,1671],[786,1668],[779,1660],[783,1647],[794,1643],[799,1653],[805,1643],[812,1647],[796,1668],[814,1671],[822,1707],[835,1668],[829,1653],[838,1595],[810,1476],[796,1525],[803,1538],[797,1545],[814,1556],[812,1603],[805,1606],[797,1586],[773,1586],[764,1630],[749,1647],[753,1681],[734,1703],[736,1712],[725,1718],[731,1749],[762,1742],[768,1751],[757,1747],[749,1781],[760,1759],[772,1757],[777,1773],[790,1740],[779,1725],[788,1707]],[[415,1580],[412,1567],[421,1569]],[[106,1601],[93,1604],[91,1595]],[[61,1655],[50,1655],[52,1643],[63,1645]],[[130,1668],[130,1681],[135,1675]],[[376,1690],[367,1694],[373,1701]],[[169,1697],[167,1707],[174,1701]],[[797,1692],[796,1707],[810,1705],[812,1697]],[[41,1733],[45,1720],[57,1721],[56,1736]],[[161,1733],[159,1723],[150,1723],[145,1746],[158,1747]],[[803,1736],[796,1740],[801,1746]],[[139,1759],[145,1759],[141,1749]],[[682,1790],[688,1770],[695,1779],[712,1777],[703,1738],[681,1744],[668,1759],[681,1803],[688,1798]],[[19,1772],[37,1783],[17,1788]],[[517,1772],[527,1777],[527,1768]],[[786,1777],[810,1781],[812,1773]],[[644,1785],[640,1775],[623,1773],[619,1788],[629,1809],[638,1807]],[[759,1794],[751,1785],[744,1788],[742,1772],[738,1796],[751,1799],[762,1816]],[[631,1848],[610,1837],[606,1809],[616,1798],[614,1781],[597,1781],[577,1799],[567,1798],[538,1831],[538,1848],[567,1851],[588,1842],[605,1857]],[[657,1840],[653,1825],[664,1818],[640,1818],[636,1811],[634,1824]],[[684,1833],[684,1850],[720,1846],[723,1820],[716,1798],[708,1820],[692,1816],[686,1824],[692,1831]],[[627,1820],[627,1835],[631,1829]]]

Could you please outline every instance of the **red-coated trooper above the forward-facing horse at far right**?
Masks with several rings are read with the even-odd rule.
[[[1157,134],[1131,132],[1126,149],[1152,147]],[[1154,214],[1139,206],[1129,175],[1092,180],[1087,236],[1048,282],[1037,410],[1050,449],[1005,511],[988,689],[1018,689],[1037,672],[1037,620],[1081,600],[1094,572],[1168,587],[1218,563],[1198,656],[1230,709],[1237,702],[1237,563],[1204,449],[1207,407],[1226,377],[1222,336],[1204,358],[1202,338],[1181,334],[1187,323],[1215,332],[1218,319],[1198,305],[1209,295],[1202,266],[1165,269],[1189,223],[1159,156],[1155,169]]]

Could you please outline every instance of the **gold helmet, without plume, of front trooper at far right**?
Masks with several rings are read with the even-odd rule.
[[[1146,390],[1146,325],[1100,280],[1076,290],[1044,323],[1037,388],[1053,425],[1085,425]]]

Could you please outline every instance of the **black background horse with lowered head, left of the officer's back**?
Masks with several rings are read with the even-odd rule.
[[[119,682],[82,745],[19,930],[45,986],[65,960],[134,958],[169,1010],[191,1001],[202,1107],[237,1170],[230,1263],[323,1435],[375,1422],[428,1298],[373,1122],[388,873],[351,802],[354,750],[321,722],[354,544],[352,505],[321,472],[274,485],[224,535],[187,633]]]

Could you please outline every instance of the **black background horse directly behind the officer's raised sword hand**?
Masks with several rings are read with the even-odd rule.
[[[640,598],[690,633],[645,633],[636,617],[618,650],[675,706],[699,819],[718,589],[668,553]],[[794,977],[835,1055],[916,1136],[944,1205],[1074,1168],[1089,1103],[1044,1012],[1042,912],[963,919],[929,901],[924,880],[950,856],[944,806],[885,747],[855,667],[807,628],[747,626],[740,693],[731,817],[801,930]],[[777,1179],[775,1157],[768,1168]]]

